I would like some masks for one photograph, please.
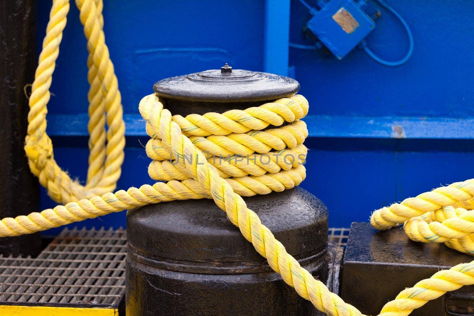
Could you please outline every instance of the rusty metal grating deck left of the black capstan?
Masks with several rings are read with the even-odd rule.
[[[118,309],[126,254],[125,229],[66,228],[37,258],[0,256],[0,305]]]

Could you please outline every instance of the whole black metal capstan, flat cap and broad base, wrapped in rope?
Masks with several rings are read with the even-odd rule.
[[[259,106],[299,89],[291,78],[228,64],[153,87],[182,116]],[[301,188],[244,199],[301,266],[338,291],[342,249],[328,246],[328,209],[319,199]],[[320,315],[210,199],[129,210],[127,235],[127,316]]]

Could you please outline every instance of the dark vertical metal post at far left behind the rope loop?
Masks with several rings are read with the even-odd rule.
[[[38,209],[38,181],[23,151],[28,100],[23,87],[32,83],[36,66],[36,0],[12,0],[0,10],[0,217]],[[0,238],[0,254],[36,255],[39,233]]]

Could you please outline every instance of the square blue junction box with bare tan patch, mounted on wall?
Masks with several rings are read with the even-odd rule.
[[[375,22],[352,0],[332,0],[306,25],[342,59],[375,28]]]

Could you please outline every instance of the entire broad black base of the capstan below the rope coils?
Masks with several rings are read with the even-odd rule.
[[[304,268],[328,279],[334,260],[326,248],[328,212],[319,199],[295,188],[245,200]],[[212,200],[130,211],[127,230],[130,316],[316,315]]]

